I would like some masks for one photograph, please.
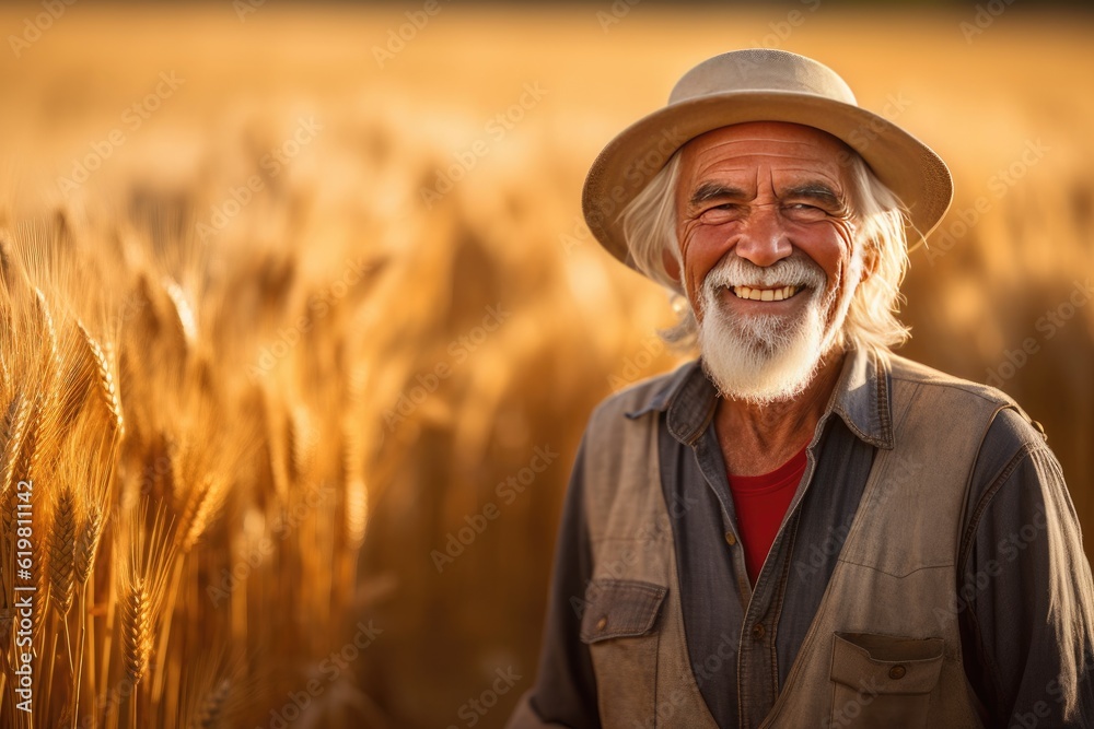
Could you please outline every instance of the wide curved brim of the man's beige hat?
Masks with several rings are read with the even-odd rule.
[[[814,94],[726,92],[659,109],[636,121],[604,148],[593,162],[582,191],[582,211],[592,234],[613,256],[635,268],[622,234],[620,212],[684,144],[708,131],[748,121],[814,127],[858,152],[908,208],[909,248],[922,243],[950,208],[953,178],[945,163],[885,117]]]

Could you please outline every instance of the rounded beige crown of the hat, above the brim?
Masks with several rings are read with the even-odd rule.
[[[668,104],[734,92],[814,94],[858,106],[851,87],[824,63],[771,48],[733,50],[714,56],[684,74]]]

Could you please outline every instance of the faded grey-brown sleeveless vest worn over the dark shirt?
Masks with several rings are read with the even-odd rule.
[[[996,413],[1017,407],[895,355],[891,378],[895,447],[874,457],[824,598],[760,727],[981,726],[950,607],[973,465]],[[684,637],[659,413],[625,416],[641,397],[636,388],[608,401],[587,431],[593,580],[581,639],[603,726],[712,729]],[[812,479],[817,439],[800,487]],[[908,460],[929,466],[908,479]],[[735,648],[725,651],[731,660]],[[521,712],[511,726],[536,724]]]

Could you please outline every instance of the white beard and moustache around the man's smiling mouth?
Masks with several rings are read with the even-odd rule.
[[[699,351],[703,369],[723,397],[755,404],[790,400],[813,380],[822,357],[842,326],[850,297],[830,322],[837,290],[826,295],[827,277],[812,259],[794,251],[769,267],[730,255],[702,282]],[[728,310],[721,297],[731,286],[794,285],[807,296],[798,314],[742,316]]]

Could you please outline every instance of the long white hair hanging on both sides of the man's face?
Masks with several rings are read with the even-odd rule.
[[[903,344],[909,329],[896,318],[903,299],[900,282],[908,269],[905,234],[907,209],[886,187],[865,161],[851,151],[846,158],[850,178],[850,202],[854,216],[854,245],[861,245],[865,274],[851,299],[836,343],[881,353]],[[696,319],[680,282],[668,274],[664,257],[672,256],[683,272],[676,239],[676,184],[679,179],[680,151],[650,180],[642,191],[619,213],[624,236],[636,268],[668,289],[680,315],[676,327],[662,332],[670,342],[690,346],[696,341]]]

